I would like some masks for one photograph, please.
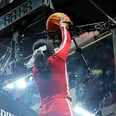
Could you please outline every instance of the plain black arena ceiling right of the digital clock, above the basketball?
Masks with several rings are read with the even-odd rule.
[[[107,17],[96,8],[100,7],[107,15],[116,16],[116,3],[114,0],[53,0],[57,11],[66,12],[76,24],[96,23],[107,20]],[[94,5],[92,4],[94,3]]]

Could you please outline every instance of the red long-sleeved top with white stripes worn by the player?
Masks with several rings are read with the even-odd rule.
[[[66,60],[70,50],[71,37],[69,31],[62,26],[62,43],[55,55],[48,57],[50,62],[51,78],[39,78],[36,67],[32,68],[35,81],[38,85],[41,100],[47,98],[70,98]]]

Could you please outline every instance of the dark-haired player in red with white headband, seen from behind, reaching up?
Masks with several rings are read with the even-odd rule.
[[[49,40],[42,39],[33,44],[32,72],[40,94],[39,116],[73,116],[66,67],[71,37],[63,20],[59,26],[62,42],[57,51]]]

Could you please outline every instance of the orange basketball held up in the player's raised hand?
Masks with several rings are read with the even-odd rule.
[[[61,13],[61,12],[56,12],[56,13],[51,14],[48,17],[48,19],[46,21],[46,30],[47,31],[59,30],[60,29],[59,22],[60,22],[61,18],[65,22],[71,22],[71,19],[66,14]]]

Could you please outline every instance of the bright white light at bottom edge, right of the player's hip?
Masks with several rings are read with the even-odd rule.
[[[91,114],[90,112],[86,111],[85,109],[79,106],[74,107],[74,113],[81,116],[95,116],[94,114]]]

